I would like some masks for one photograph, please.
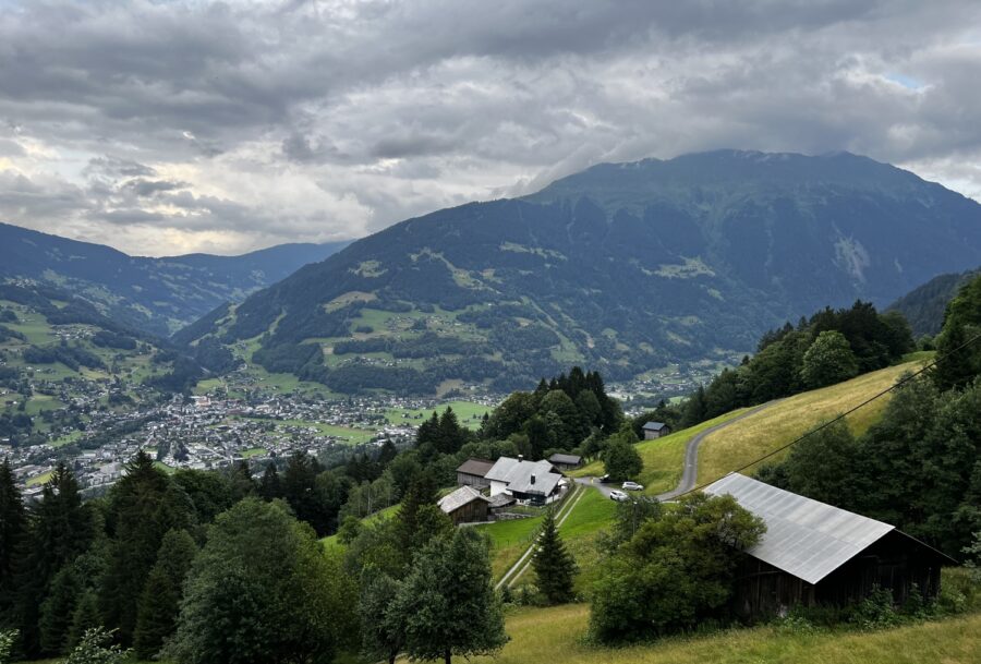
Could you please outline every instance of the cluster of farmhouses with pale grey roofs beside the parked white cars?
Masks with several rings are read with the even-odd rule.
[[[468,459],[457,469],[458,488],[438,505],[456,524],[507,518],[516,505],[544,506],[560,499],[570,485],[562,471],[580,466],[581,457],[559,454],[541,461],[520,455],[496,461]]]

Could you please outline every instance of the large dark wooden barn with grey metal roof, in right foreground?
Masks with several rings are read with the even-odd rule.
[[[913,585],[940,591],[943,553],[894,526],[730,473],[704,490],[729,494],[766,522],[766,533],[737,576],[734,608],[744,617],[784,614],[803,604],[847,604],[888,589],[901,603]]]

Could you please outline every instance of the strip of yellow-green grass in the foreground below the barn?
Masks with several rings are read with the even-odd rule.
[[[977,664],[981,615],[875,632],[792,633],[777,627],[608,649],[583,640],[589,607],[525,608],[507,617],[511,637],[496,664]]]

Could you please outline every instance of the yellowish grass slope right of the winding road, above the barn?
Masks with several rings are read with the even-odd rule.
[[[699,449],[699,483],[726,473],[785,445],[818,424],[858,406],[894,385],[906,372],[916,371],[923,359],[868,373],[851,381],[790,397],[705,437]],[[882,414],[888,395],[848,418],[860,434]],[[752,472],[752,468],[747,472]]]

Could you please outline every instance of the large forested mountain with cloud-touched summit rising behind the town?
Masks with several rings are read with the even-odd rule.
[[[175,338],[253,339],[244,359],[344,393],[528,387],[573,363],[626,379],[979,264],[981,205],[940,184],[848,153],[720,150],[409,219]]]

